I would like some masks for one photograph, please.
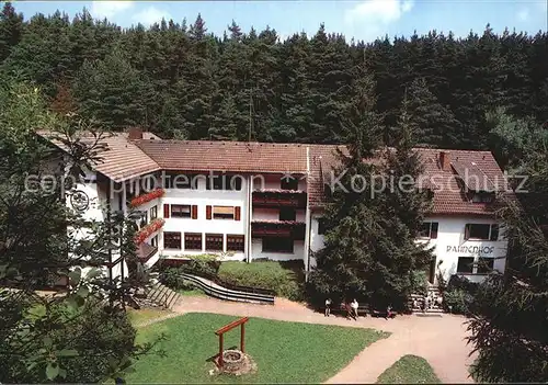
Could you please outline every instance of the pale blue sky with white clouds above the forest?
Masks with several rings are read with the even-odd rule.
[[[547,31],[548,0],[286,0],[286,1],[15,1],[25,19],[57,9],[73,16],[84,7],[98,19],[107,18],[121,26],[173,19],[192,24],[201,13],[208,32],[222,35],[236,21],[243,32],[267,25],[283,38],[294,33],[313,35],[321,23],[328,32],[365,42],[388,35],[410,36],[436,30],[466,36],[481,34],[488,23],[494,32],[535,34]]]

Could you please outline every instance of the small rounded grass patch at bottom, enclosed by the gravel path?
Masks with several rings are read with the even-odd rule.
[[[416,355],[403,355],[388,367],[377,384],[441,384],[442,382],[426,360]]]

